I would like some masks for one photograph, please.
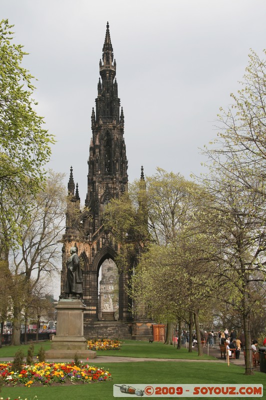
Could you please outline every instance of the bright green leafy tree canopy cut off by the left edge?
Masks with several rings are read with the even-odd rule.
[[[0,254],[5,260],[17,240],[18,212],[27,211],[25,195],[39,190],[54,142],[34,109],[33,76],[21,65],[27,53],[12,42],[11,29],[7,19],[0,21]]]

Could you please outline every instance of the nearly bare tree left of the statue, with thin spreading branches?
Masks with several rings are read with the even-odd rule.
[[[61,260],[59,246],[64,229],[66,196],[63,182],[64,175],[50,171],[42,190],[31,202],[27,219],[19,219],[19,248],[10,250],[9,270],[15,282],[24,287],[23,296],[30,297],[40,278],[53,276],[58,272]],[[27,198],[25,201],[29,201]],[[29,202],[28,202],[29,203]],[[21,295],[11,291],[13,299],[13,334],[12,342],[17,344],[20,335],[20,316],[23,307]]]

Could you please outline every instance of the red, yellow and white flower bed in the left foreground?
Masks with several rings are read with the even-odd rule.
[[[11,370],[11,362],[0,363],[0,376],[7,384],[23,383],[31,386],[33,383],[50,385],[53,382],[91,382],[111,379],[111,374],[97,366],[74,362],[38,362],[33,365],[24,365],[20,372]]]

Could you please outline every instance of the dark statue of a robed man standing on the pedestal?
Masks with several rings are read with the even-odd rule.
[[[70,248],[70,257],[66,262],[67,274],[65,283],[66,298],[82,297],[82,271],[76,247]]]

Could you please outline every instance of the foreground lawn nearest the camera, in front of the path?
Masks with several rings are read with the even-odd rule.
[[[92,360],[93,361],[93,360]],[[93,364],[93,362],[91,362]],[[50,387],[4,387],[0,396],[11,400],[20,395],[21,398],[33,400],[37,395],[38,400],[76,399],[87,400],[111,400],[113,399],[113,384],[132,384],[137,387],[138,383],[263,383],[266,374],[255,372],[252,376],[244,375],[244,367],[231,364],[228,366],[221,362],[193,362],[193,361],[144,361],[144,362],[117,362],[103,363],[99,365],[109,369],[113,376],[112,381],[97,382],[82,385],[50,386]],[[155,398],[155,397],[150,397]],[[165,397],[156,397],[165,398]],[[232,397],[231,397],[232,398]],[[266,400],[266,394],[263,397]],[[182,397],[191,399],[191,397]],[[223,397],[229,400],[229,397]],[[241,400],[243,397],[234,397]]]

